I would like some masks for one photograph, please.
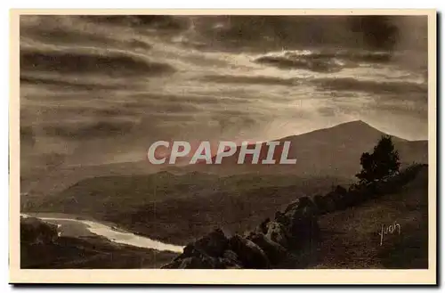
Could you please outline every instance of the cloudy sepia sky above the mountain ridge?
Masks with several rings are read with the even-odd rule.
[[[22,167],[361,119],[427,137],[426,17],[21,16]]]

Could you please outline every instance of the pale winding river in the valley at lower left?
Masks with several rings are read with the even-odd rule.
[[[21,216],[28,216],[28,215],[22,214]],[[120,229],[117,231],[117,229],[113,229],[112,227],[106,224],[101,224],[98,222],[73,219],[69,217],[39,217],[39,216],[36,217],[41,219],[42,221],[55,222],[58,224],[59,228],[63,227],[64,221],[74,221],[80,224],[85,224],[86,229],[89,232],[92,232],[93,234],[106,237],[110,241],[116,243],[132,245],[138,248],[151,248],[160,251],[173,251],[175,253],[182,253],[183,249],[182,246],[167,244],[158,240],[152,240],[147,237],[135,235],[132,232],[125,232]]]

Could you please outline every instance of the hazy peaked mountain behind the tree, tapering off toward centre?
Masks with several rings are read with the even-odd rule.
[[[231,157],[223,158],[221,165],[198,164],[185,167],[187,171],[209,172],[218,175],[238,173],[290,173],[295,175],[336,175],[350,177],[360,171],[360,156],[365,151],[372,151],[383,132],[358,120],[315,130],[306,134],[287,136],[278,140],[290,142],[287,158],[296,159],[295,165],[253,165],[252,156],[247,155],[245,164],[237,164],[238,147]],[[399,151],[401,163],[428,163],[428,142],[408,141],[392,136],[392,142]],[[260,161],[266,159],[268,146],[262,143]],[[279,160],[279,153],[274,159]],[[215,156],[212,161],[215,161]]]

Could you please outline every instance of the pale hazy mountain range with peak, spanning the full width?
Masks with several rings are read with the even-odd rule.
[[[185,167],[159,167],[150,165],[147,160],[104,164],[98,166],[66,167],[57,172],[46,174],[38,182],[22,181],[23,191],[29,191],[28,182],[33,184],[32,192],[37,194],[57,193],[70,185],[87,178],[101,176],[148,175],[160,171],[173,174],[204,172],[214,175],[237,175],[244,173],[285,174],[311,176],[336,176],[352,178],[360,171],[360,155],[364,151],[372,151],[383,132],[369,126],[363,121],[352,121],[329,128],[315,130],[306,134],[287,136],[276,141],[291,142],[288,158],[297,159],[295,165],[251,165],[247,156],[245,165],[236,164],[237,152],[224,158],[222,165],[190,165]],[[402,165],[413,162],[428,163],[428,142],[407,141],[392,136],[396,150],[399,151]],[[264,159],[263,151],[260,159]],[[213,158],[214,162],[214,158]]]

